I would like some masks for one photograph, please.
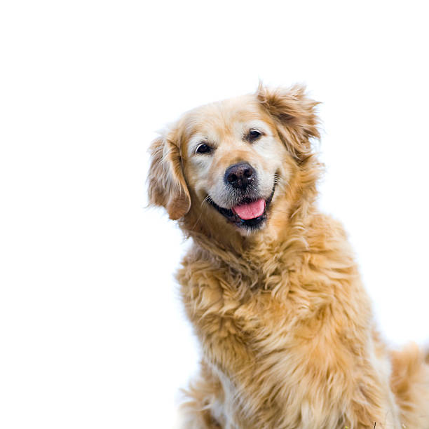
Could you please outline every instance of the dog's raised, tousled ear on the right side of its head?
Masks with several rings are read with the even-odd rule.
[[[304,86],[268,89],[259,83],[257,99],[277,124],[280,138],[290,153],[302,163],[311,154],[311,139],[320,138],[315,102]]]

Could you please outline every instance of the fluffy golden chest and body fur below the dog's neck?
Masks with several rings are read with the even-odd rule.
[[[323,233],[305,245],[271,243],[270,257],[247,273],[199,245],[184,259],[182,297],[207,371],[219,380],[217,418],[225,428],[398,423],[383,393],[388,360],[382,348],[376,354],[353,257],[338,225],[317,222]],[[359,409],[353,416],[352,406]]]

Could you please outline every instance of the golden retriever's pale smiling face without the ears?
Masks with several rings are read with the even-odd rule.
[[[185,123],[184,177],[198,203],[238,229],[264,226],[276,179],[289,175],[273,120],[247,96],[200,107]]]

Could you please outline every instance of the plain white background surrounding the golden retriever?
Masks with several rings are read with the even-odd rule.
[[[386,339],[429,343],[425,2],[150,3],[1,3],[1,428],[172,428],[198,350],[147,147],[258,79],[323,102],[320,206]]]

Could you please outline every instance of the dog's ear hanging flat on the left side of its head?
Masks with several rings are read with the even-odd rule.
[[[165,207],[170,219],[180,219],[189,212],[191,197],[182,172],[179,147],[168,137],[158,137],[149,153],[149,204]]]

